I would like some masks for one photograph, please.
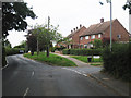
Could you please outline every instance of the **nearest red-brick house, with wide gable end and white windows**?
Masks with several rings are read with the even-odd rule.
[[[100,19],[100,23],[91,25],[87,29],[83,30],[80,35],[80,46],[81,48],[90,48],[93,47],[90,44],[91,41],[103,38],[110,38],[110,21],[104,22],[104,19]],[[119,42],[129,41],[129,32],[117,19],[112,20],[112,39]]]

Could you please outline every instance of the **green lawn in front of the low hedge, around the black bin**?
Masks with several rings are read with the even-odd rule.
[[[87,56],[70,56],[71,58],[78,59],[80,61],[83,61],[85,63],[90,63],[91,65],[103,65],[102,58],[92,58],[92,62],[87,61]]]

